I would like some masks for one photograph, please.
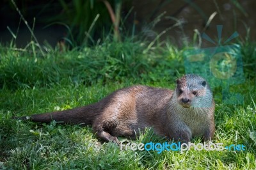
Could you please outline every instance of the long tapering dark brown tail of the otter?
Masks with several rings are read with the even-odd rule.
[[[70,124],[84,124],[91,125],[92,121],[99,114],[97,107],[87,105],[84,107],[77,107],[65,111],[47,112],[42,114],[33,114],[31,116],[22,116],[18,120],[31,120],[41,123],[49,123],[53,120],[60,123]]]

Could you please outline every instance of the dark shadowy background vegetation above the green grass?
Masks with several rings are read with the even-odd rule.
[[[118,1],[109,1],[115,12],[115,4]],[[143,33],[148,40],[156,38],[159,33],[179,23],[167,31],[161,40],[169,39],[176,45],[184,45],[191,42],[195,29],[200,33],[206,33],[216,38],[216,25],[223,25],[223,37],[227,38],[234,31],[237,31],[240,38],[255,40],[256,14],[253,0],[238,1],[204,1],[204,0],[151,0],[151,1],[121,1],[122,17],[120,32],[122,36],[134,33]],[[16,1],[17,6],[28,20],[29,26],[35,26],[35,35],[40,43],[47,40],[51,45],[56,45],[62,38],[68,38],[70,43],[81,45],[84,43],[85,34],[93,20],[100,15],[99,19],[89,33],[95,42],[105,38],[112,29],[112,22],[109,12],[100,0],[86,1]],[[2,43],[10,41],[12,35],[7,26],[19,34],[17,45],[23,46],[30,42],[30,34],[24,22],[20,22],[20,15],[15,10],[12,1],[4,0],[0,10],[0,40]],[[212,13],[217,14],[210,19]],[[35,19],[35,20],[34,20]],[[70,29],[70,31],[68,31]],[[248,32],[250,31],[250,35]],[[71,33],[70,33],[71,32]],[[92,43],[92,42],[90,42]]]

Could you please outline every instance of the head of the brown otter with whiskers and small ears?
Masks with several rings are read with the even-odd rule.
[[[205,79],[188,74],[177,79],[176,82],[175,95],[178,104],[182,107],[211,107],[212,93]]]

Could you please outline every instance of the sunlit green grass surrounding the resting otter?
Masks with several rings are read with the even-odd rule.
[[[55,121],[37,124],[12,120],[12,116],[87,105],[132,84],[173,89],[175,79],[184,73],[183,49],[167,45],[145,53],[146,43],[106,41],[79,50],[50,49],[43,58],[37,50],[13,48],[0,47],[0,169],[256,169],[254,43],[242,45],[246,81],[230,88],[243,93],[243,104],[225,105],[221,88],[213,89],[214,143],[244,144],[246,150],[161,154],[120,151],[113,143],[99,141],[91,127]],[[165,139],[148,130],[130,142],[150,141],[163,143]]]

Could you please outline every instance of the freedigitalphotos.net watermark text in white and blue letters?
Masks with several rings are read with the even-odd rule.
[[[180,151],[180,153],[183,153],[184,151],[188,150],[195,150],[195,151],[244,151],[245,146],[243,144],[230,144],[228,146],[223,146],[223,143],[127,143],[123,144],[123,142],[120,144],[120,150],[147,150],[147,151],[157,151],[157,153],[162,153],[164,150],[166,151]]]

